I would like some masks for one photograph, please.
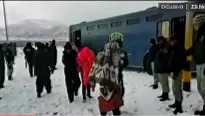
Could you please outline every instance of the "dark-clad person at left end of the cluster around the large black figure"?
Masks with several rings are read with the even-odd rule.
[[[23,52],[25,54],[25,60],[28,63],[30,77],[33,77],[33,58],[35,55],[35,49],[32,47],[31,42],[26,44]]]

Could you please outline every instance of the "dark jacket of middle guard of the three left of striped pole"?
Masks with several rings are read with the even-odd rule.
[[[161,48],[155,57],[155,72],[170,73],[171,58],[170,48]]]

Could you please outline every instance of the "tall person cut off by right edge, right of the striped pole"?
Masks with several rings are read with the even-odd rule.
[[[196,64],[197,89],[204,102],[203,109],[195,111],[195,115],[205,115],[205,14],[197,14],[193,19],[196,31],[193,46],[187,55],[193,55]]]

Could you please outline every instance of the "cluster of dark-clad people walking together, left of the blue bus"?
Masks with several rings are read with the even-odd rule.
[[[48,43],[36,43],[36,47],[37,50],[29,42],[23,52],[30,77],[36,76],[36,92],[37,97],[40,98],[44,87],[48,94],[51,93],[50,76],[57,69],[57,48],[55,40],[50,43],[50,46]]]

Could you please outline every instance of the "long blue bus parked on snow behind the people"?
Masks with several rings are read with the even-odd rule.
[[[161,10],[157,7],[121,16],[82,22],[69,28],[70,41],[100,51],[113,32],[124,35],[124,49],[128,52],[130,67],[143,67],[143,56],[149,49],[149,40],[175,33],[184,45],[185,10]]]

